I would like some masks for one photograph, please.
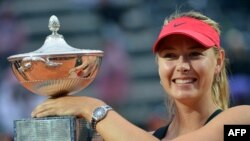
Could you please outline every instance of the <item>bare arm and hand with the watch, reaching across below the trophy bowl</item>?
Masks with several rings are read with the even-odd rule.
[[[92,112],[104,102],[85,96],[66,96],[48,99],[40,104],[32,117],[49,115],[76,115],[91,121]],[[157,141],[152,134],[131,124],[115,111],[109,111],[107,116],[98,122],[96,129],[105,141]]]

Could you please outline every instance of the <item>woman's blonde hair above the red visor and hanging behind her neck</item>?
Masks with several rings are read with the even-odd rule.
[[[219,24],[215,22],[214,20],[210,19],[209,17],[195,11],[189,11],[184,13],[174,13],[169,18],[165,19],[164,25],[167,25],[171,20],[174,20],[179,17],[191,17],[194,19],[201,20],[211,27],[213,27],[218,34],[220,35],[220,29]],[[219,55],[219,51],[223,50],[215,48],[214,52],[216,57]],[[214,76],[213,83],[212,83],[212,100],[213,102],[220,107],[221,109],[225,110],[229,106],[229,86],[228,86],[228,77],[227,77],[227,70],[226,70],[226,59],[224,60],[223,67],[220,71],[218,76]],[[173,99],[171,97],[167,97],[167,109],[168,109],[168,115],[172,116],[175,113],[176,107]]]

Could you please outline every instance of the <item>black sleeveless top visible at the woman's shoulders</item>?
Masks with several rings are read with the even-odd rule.
[[[207,121],[205,122],[205,124],[207,124],[210,120],[212,120],[214,117],[216,117],[219,113],[221,113],[222,110],[221,109],[218,109],[216,110],[208,119]],[[154,136],[158,139],[163,139],[165,136],[166,136],[166,133],[168,131],[168,126],[163,126],[159,129],[157,129],[155,132],[154,132]]]

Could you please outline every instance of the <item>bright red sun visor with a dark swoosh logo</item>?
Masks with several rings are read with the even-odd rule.
[[[206,48],[214,46],[220,48],[220,37],[214,28],[198,19],[180,17],[163,26],[160,35],[154,44],[153,52],[155,53],[158,50],[159,42],[163,38],[173,34],[186,35],[198,41]]]

